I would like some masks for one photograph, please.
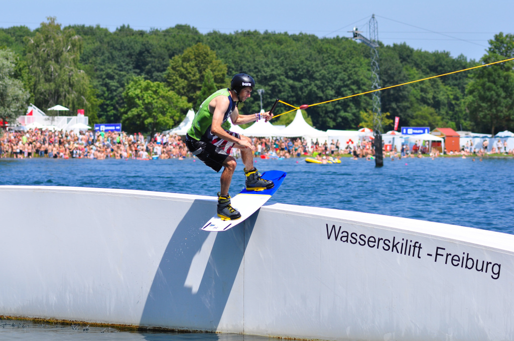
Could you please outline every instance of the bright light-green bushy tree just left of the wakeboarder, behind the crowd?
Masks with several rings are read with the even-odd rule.
[[[146,81],[142,77],[128,83],[123,98],[121,122],[124,129],[150,132],[151,136],[179,123],[191,107],[186,97],[178,96],[164,83]]]

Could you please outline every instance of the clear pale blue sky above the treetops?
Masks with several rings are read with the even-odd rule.
[[[512,0],[4,0],[0,27],[26,25],[33,29],[47,16],[56,16],[64,25],[99,24],[109,30],[122,24],[143,30],[188,24],[203,33],[255,29],[349,37],[351,33],[346,31],[354,25],[367,36],[373,13],[384,44],[406,42],[417,49],[449,51],[452,56],[462,53],[468,59],[480,59],[495,33],[514,32]]]

